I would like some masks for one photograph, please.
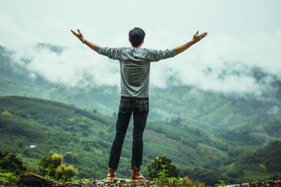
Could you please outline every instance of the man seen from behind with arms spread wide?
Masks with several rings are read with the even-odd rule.
[[[197,32],[191,41],[172,50],[151,50],[141,48],[145,39],[145,32],[138,27],[133,28],[129,32],[131,48],[103,48],[87,41],[79,29],[77,31],[78,33],[71,30],[82,43],[85,43],[100,55],[105,55],[120,62],[121,101],[116,123],[115,139],[110,151],[107,179],[116,179],[115,172],[119,165],[126,130],[131,114],[133,113],[133,147],[131,158],[133,174],[131,181],[144,180],[145,177],[141,174],[140,170],[143,160],[143,131],[145,130],[149,109],[150,62],[157,62],[182,53],[207,36],[207,33],[204,32],[198,35]]]

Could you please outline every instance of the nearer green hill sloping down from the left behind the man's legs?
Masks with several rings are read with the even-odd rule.
[[[0,148],[18,153],[27,167],[36,169],[42,155],[71,151],[80,158],[79,177],[89,177],[91,169],[96,169],[97,178],[105,178],[115,118],[63,103],[15,96],[0,97],[0,113]],[[131,175],[131,132],[132,124],[124,141],[119,177]],[[182,174],[228,157],[226,144],[184,123],[148,123],[144,144],[143,173],[158,155],[171,158]]]

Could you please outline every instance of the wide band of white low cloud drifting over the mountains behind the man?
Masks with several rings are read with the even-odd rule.
[[[82,45],[58,20],[48,18],[63,39],[47,40],[25,32],[7,16],[1,17],[0,45],[14,50],[13,60],[49,81],[70,86],[119,85],[119,62],[98,55]],[[127,35],[99,36],[84,27],[89,38],[102,46],[129,46]],[[84,34],[84,35],[85,35]],[[18,42],[13,39],[18,36]],[[48,37],[47,37],[48,38]],[[49,36],[51,38],[51,36]],[[149,31],[144,48],[166,49],[179,46],[192,38],[169,31]],[[37,40],[38,39],[38,40]],[[91,41],[91,39],[89,39]],[[57,42],[55,42],[57,41]],[[58,42],[60,41],[60,42]],[[67,41],[67,42],[63,42]],[[116,41],[116,43],[114,43]],[[281,30],[271,33],[245,33],[240,38],[227,35],[208,36],[174,58],[151,64],[151,85],[166,88],[171,83],[195,85],[202,90],[252,94],[262,97],[280,90],[274,83],[281,80]],[[59,53],[58,53],[59,51]]]

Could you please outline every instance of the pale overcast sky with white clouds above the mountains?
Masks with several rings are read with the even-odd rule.
[[[0,1],[0,45],[15,50],[15,62],[30,60],[30,70],[51,81],[77,85],[119,85],[119,63],[95,53],[70,32],[80,29],[99,46],[130,46],[128,32],[145,30],[143,48],[182,45],[197,32],[205,39],[169,60],[152,64],[150,83],[165,87],[174,76],[204,90],[273,90],[281,78],[281,1]],[[63,46],[63,53],[35,48]],[[256,81],[258,67],[270,76]],[[85,81],[87,77],[88,81]]]

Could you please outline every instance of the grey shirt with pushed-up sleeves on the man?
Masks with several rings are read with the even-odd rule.
[[[121,96],[149,96],[150,62],[157,62],[176,55],[176,50],[151,50],[146,48],[103,48],[97,52],[119,60],[121,71]]]

